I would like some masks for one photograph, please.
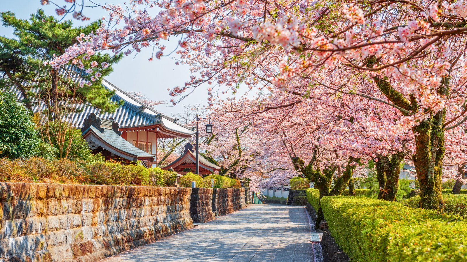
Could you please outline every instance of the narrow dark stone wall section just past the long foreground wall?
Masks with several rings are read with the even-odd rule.
[[[212,188],[191,188],[190,214],[193,223],[205,223],[214,219],[213,191]]]

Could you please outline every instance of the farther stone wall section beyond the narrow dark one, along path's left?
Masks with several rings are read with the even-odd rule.
[[[213,212],[219,216],[230,214],[246,206],[245,188],[215,188],[216,199],[213,201]],[[213,194],[214,196],[214,194]]]

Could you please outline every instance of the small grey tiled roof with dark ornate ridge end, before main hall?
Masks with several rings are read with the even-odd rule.
[[[140,150],[122,138],[118,123],[113,119],[99,118],[94,113],[83,121],[83,138],[91,149],[102,147],[113,154],[136,162],[137,160],[154,161],[154,156]]]

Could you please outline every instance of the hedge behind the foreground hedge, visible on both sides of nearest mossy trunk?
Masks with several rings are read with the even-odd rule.
[[[443,200],[445,202],[443,207],[444,213],[467,217],[467,195],[443,194]],[[401,203],[406,207],[417,208],[418,202],[420,202],[420,196],[405,199]]]

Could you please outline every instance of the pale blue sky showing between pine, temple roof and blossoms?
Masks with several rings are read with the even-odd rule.
[[[102,3],[109,3],[109,1],[104,0],[94,1],[97,3],[99,3],[99,1]],[[55,0],[55,2],[57,4],[65,4],[64,0]],[[111,2],[113,4],[122,4],[127,1],[112,0]],[[91,5],[91,3],[86,3],[85,1],[85,5]],[[0,0],[0,12],[12,11],[17,17],[22,19],[28,19],[30,14],[35,13],[38,8],[44,9],[46,14],[55,15],[54,10],[56,7],[52,5],[42,6],[40,0]],[[83,13],[88,16],[91,21],[98,20],[107,14],[106,11],[100,7],[85,7]],[[71,15],[69,15],[67,19],[72,19]],[[73,20],[73,23],[77,26],[86,24],[86,22],[76,20]],[[0,25],[0,35],[12,37],[12,33],[13,29],[5,28]],[[177,42],[177,39],[172,39],[172,41],[163,43],[167,46],[164,53],[169,53],[170,50],[173,50]],[[156,107],[156,110],[166,115],[177,114],[183,111],[184,105],[193,105],[197,103],[207,105],[206,101],[208,95],[206,88],[198,88],[181,103],[172,107],[169,102],[172,97],[170,97],[167,89],[175,86],[183,86],[191,75],[189,67],[176,65],[175,60],[166,56],[162,57],[161,60],[155,58],[153,61],[148,61],[151,52],[152,49],[143,48],[142,52],[136,56],[132,54],[124,57],[120,63],[113,67],[113,73],[107,76],[106,79],[122,90],[142,92],[152,100],[166,100],[167,104],[158,105]],[[171,56],[176,57],[177,54],[173,53]]]

